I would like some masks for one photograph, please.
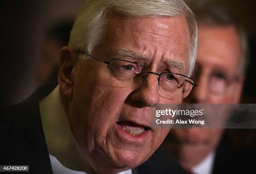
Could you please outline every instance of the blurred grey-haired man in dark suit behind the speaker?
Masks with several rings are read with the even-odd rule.
[[[222,7],[200,7],[195,14],[199,45],[193,77],[198,87],[185,102],[239,103],[247,64],[246,37]],[[244,173],[253,161],[241,162],[239,159],[246,157],[246,152],[230,148],[223,132],[224,129],[173,129],[165,143],[189,173]]]

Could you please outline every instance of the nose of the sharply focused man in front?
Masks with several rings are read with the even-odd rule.
[[[152,104],[158,104],[160,96],[158,93],[157,75],[148,74],[137,89],[131,95],[133,103],[140,103],[143,106],[151,107]]]

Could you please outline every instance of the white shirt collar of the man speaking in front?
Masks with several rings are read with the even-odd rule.
[[[69,127],[61,100],[59,85],[39,101],[46,145],[54,174],[93,174],[93,170],[81,155],[80,148]],[[119,174],[132,174],[132,170]]]

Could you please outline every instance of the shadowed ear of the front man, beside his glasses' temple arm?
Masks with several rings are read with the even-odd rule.
[[[63,47],[60,53],[60,68],[59,68],[59,84],[61,94],[67,99],[67,102],[72,100],[74,78],[73,72],[75,67],[76,54],[70,47]]]

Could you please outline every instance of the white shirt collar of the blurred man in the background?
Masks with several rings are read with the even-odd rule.
[[[213,162],[215,158],[215,152],[210,152],[205,159],[192,168],[193,174],[211,174],[213,168]]]

